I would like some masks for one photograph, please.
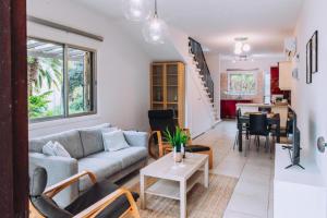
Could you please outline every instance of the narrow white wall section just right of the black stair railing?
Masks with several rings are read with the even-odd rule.
[[[214,102],[217,109],[217,117],[220,118],[220,55],[206,53],[205,57],[215,84]]]

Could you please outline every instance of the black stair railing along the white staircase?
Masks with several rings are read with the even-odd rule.
[[[204,85],[207,88],[207,93],[210,97],[211,102],[214,102],[214,82],[208,69],[206,58],[203,53],[202,46],[198,41],[189,37],[189,46],[191,52],[194,55],[194,60],[197,62],[197,68],[199,69],[199,74],[203,76]]]

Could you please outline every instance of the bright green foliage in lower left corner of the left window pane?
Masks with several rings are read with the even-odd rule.
[[[49,96],[52,94],[52,90],[39,95],[28,96],[28,116],[29,118],[39,118],[47,113],[49,105]]]

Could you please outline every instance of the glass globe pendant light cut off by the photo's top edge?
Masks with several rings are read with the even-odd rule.
[[[129,21],[142,22],[150,16],[149,0],[122,0],[122,9]]]

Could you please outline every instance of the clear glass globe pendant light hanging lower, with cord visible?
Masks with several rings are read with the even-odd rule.
[[[157,0],[155,0],[155,14],[149,19],[143,27],[143,36],[147,43],[150,44],[165,44],[168,27],[158,16]]]

